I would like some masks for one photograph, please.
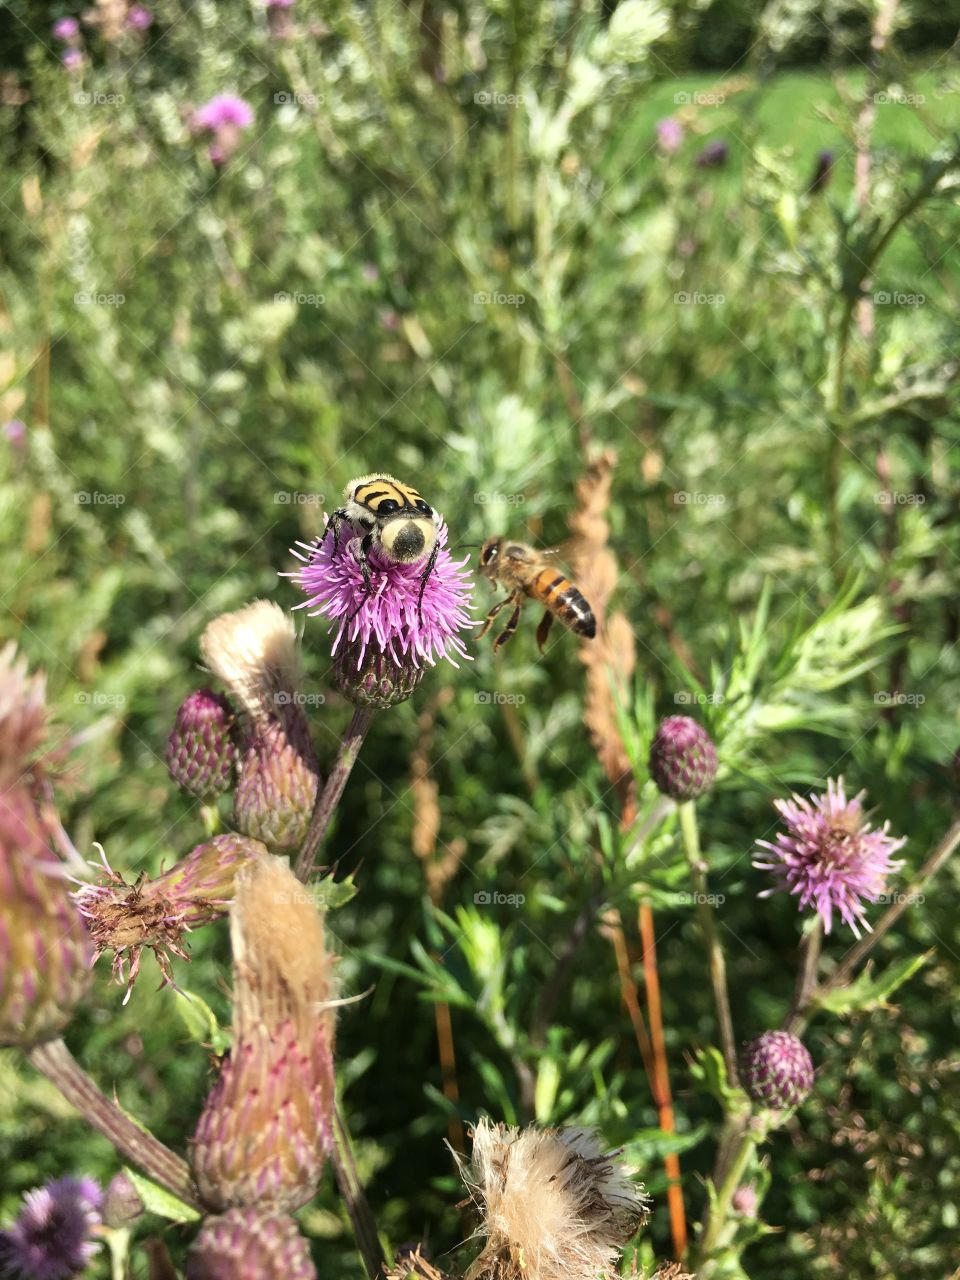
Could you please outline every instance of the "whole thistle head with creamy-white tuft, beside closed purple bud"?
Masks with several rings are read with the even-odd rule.
[[[296,849],[310,826],[320,774],[293,623],[279,605],[256,600],[214,618],[200,648],[244,713],[237,826],[271,849]]]

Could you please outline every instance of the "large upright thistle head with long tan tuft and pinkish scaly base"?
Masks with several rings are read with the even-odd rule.
[[[233,1047],[192,1142],[193,1176],[216,1212],[293,1212],[332,1142],[334,987],[324,918],[285,860],[239,877],[230,943]]]

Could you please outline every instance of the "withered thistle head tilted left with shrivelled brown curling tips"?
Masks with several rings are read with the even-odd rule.
[[[102,854],[102,850],[101,850]],[[237,873],[268,850],[246,836],[214,836],[155,879],[128,884],[102,859],[105,883],[83,884],[73,896],[99,959],[114,952],[113,974],[131,998],[145,947],[154,952],[164,983],[175,986],[170,956],[189,960],[184,933],[224,915]]]

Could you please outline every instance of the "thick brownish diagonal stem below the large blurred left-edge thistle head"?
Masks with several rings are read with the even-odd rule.
[[[67,1101],[77,1107],[87,1124],[111,1142],[122,1156],[138,1165],[178,1199],[202,1212],[204,1206],[187,1162],[125,1116],[87,1075],[61,1039],[36,1044],[28,1057]]]

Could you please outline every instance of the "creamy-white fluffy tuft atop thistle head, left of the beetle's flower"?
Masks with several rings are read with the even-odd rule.
[[[293,623],[273,600],[255,600],[214,618],[200,639],[204,662],[227,685],[256,728],[300,710],[302,682]],[[302,713],[301,713],[302,714]]]

